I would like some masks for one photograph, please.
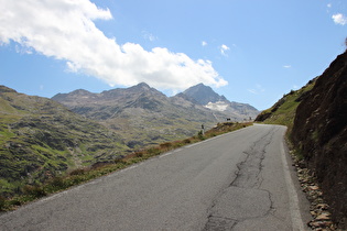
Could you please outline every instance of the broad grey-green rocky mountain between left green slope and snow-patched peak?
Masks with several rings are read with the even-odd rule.
[[[100,94],[75,90],[52,99],[121,133],[134,148],[192,136],[202,124],[212,128],[226,118],[246,117],[210,110],[186,94],[166,97],[144,82]]]

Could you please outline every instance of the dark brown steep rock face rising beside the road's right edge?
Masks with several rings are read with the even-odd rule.
[[[291,139],[316,173],[333,219],[347,228],[347,52],[302,97]]]

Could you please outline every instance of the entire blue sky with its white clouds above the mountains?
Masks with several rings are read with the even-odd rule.
[[[259,110],[346,50],[345,0],[0,0],[0,85],[53,97],[204,82]]]

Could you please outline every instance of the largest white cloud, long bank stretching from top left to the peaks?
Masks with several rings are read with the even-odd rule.
[[[134,43],[117,44],[93,22],[111,20],[111,12],[89,0],[0,0],[0,45],[14,41],[66,61],[69,72],[95,76],[110,86],[145,81],[174,91],[198,82],[216,87],[228,84],[209,61],[193,61],[162,47],[144,51]]]

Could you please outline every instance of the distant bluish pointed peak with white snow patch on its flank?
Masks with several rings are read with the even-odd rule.
[[[247,103],[230,102],[225,96],[219,96],[204,84],[198,84],[186,89],[183,91],[183,95],[187,96],[193,102],[197,102],[213,111],[225,113],[226,117],[234,118],[235,120],[248,120],[259,114],[259,111],[254,107]]]

